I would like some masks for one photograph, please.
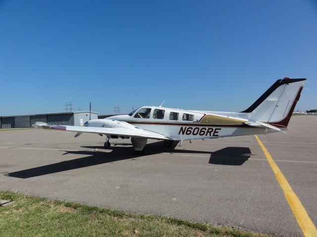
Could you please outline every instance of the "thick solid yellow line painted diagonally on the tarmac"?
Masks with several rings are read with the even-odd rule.
[[[302,205],[300,199],[296,196],[294,191],[292,190],[292,187],[287,182],[285,176],[281,172],[281,170],[278,168],[274,160],[272,159],[271,155],[268,153],[266,148],[264,147],[263,143],[260,141],[259,137],[255,135],[260,147],[262,148],[264,155],[271,166],[275,177],[277,179],[277,182],[281,186],[285,198],[288,201],[288,204],[292,208],[292,211],[295,215],[295,218],[300,226],[300,228],[303,231],[303,234],[305,237],[317,237],[317,229],[312,222],[311,218],[309,218],[307,211],[305,210],[304,206]]]

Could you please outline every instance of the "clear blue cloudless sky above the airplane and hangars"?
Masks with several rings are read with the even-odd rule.
[[[276,79],[317,108],[317,1],[0,0],[0,115],[242,111]]]

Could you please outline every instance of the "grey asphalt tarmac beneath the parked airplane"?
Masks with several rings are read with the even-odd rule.
[[[293,116],[288,134],[260,140],[317,226],[317,116]],[[255,136],[149,140],[136,156],[130,140],[51,130],[0,131],[0,190],[133,213],[160,214],[303,236]]]

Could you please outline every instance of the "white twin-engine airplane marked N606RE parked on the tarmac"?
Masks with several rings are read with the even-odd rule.
[[[163,140],[169,147],[175,141],[266,134],[284,131],[299,100],[306,79],[279,79],[248,109],[242,112],[213,112],[144,106],[129,115],[93,119],[85,126],[49,125],[36,122],[35,127],[131,138],[137,154],[142,154],[147,139]]]

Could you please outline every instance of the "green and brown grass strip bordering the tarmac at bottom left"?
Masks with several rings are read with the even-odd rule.
[[[1,192],[0,236],[265,237],[239,228]]]

